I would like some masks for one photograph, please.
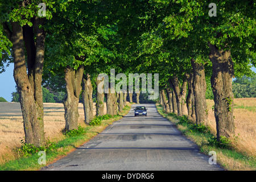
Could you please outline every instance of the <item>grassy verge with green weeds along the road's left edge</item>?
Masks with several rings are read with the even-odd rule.
[[[36,148],[34,146],[27,146],[27,144],[23,143],[21,147],[13,149],[13,153],[16,154],[15,159],[1,164],[0,171],[35,171],[55,162],[101,133],[107,126],[112,125],[114,121],[121,119],[124,115],[129,113],[132,104],[133,103],[127,102],[123,111],[113,117],[109,117],[109,115],[105,117],[107,119],[101,117],[99,125],[84,124],[79,126],[79,129],[77,130],[73,130],[68,134],[63,134],[57,142],[47,140],[48,146],[46,148]],[[34,150],[35,152],[33,152]],[[46,164],[39,164],[38,160],[41,156],[38,153],[39,150],[46,151]]]

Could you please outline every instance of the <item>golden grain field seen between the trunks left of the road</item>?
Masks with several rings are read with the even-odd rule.
[[[104,113],[106,114],[106,103]],[[94,115],[96,107],[94,103]],[[79,103],[79,123],[84,124],[84,109]],[[63,138],[61,130],[65,127],[64,105],[61,103],[44,103],[44,132],[51,141]],[[22,111],[16,102],[0,102],[0,164],[12,158],[13,148],[21,145],[25,136]]]

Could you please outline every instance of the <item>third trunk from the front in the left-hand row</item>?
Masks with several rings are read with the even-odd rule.
[[[85,123],[89,123],[93,119],[93,87],[90,81],[90,75],[82,76],[82,104],[84,105]]]

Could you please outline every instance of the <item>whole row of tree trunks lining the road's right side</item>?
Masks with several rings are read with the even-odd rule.
[[[234,135],[234,116],[233,116],[233,100],[232,78],[234,77],[234,65],[230,51],[218,49],[214,45],[210,45],[209,59],[212,61],[212,77],[210,79],[213,96],[214,96],[214,116],[216,119],[217,139],[221,136],[230,137]],[[188,96],[186,99],[188,119],[195,121],[197,124],[205,124],[208,122],[207,102],[205,100],[205,91],[207,89],[205,81],[204,63],[197,63],[191,59],[192,72],[185,74],[188,83]],[[182,92],[185,86],[180,87],[177,76],[168,79],[172,88],[172,108],[169,105],[172,113],[175,113],[177,107],[177,115],[183,115]],[[183,81],[184,84],[184,81]],[[165,93],[160,92],[160,104],[167,111],[166,104],[171,103],[171,92],[166,88],[168,93],[168,102],[164,100]],[[170,93],[170,94],[169,94]],[[175,97],[174,97],[175,96]],[[176,102],[174,102],[176,99]],[[174,104],[176,103],[176,104]],[[170,111],[169,111],[170,112]]]

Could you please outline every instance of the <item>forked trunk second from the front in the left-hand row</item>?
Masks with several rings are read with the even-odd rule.
[[[81,92],[82,75],[84,75],[84,66],[77,68],[77,71],[67,66],[65,68],[65,81],[67,97],[64,100],[65,109],[65,129],[69,131],[77,129],[77,122],[79,118],[79,96]]]

